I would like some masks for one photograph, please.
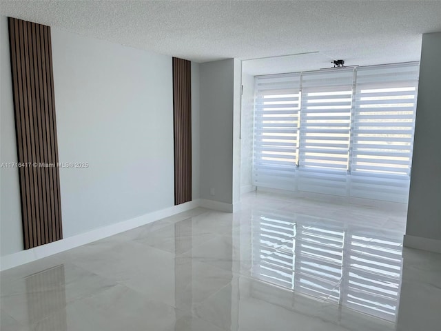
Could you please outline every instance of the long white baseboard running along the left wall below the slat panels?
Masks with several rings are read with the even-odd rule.
[[[216,201],[212,202],[215,203]],[[65,250],[70,250],[81,245],[85,245],[86,243],[92,243],[93,241],[97,241],[99,239],[111,237],[114,234],[138,228],[141,225],[152,223],[154,221],[158,221],[158,219],[170,217],[174,214],[185,212],[186,210],[191,210],[193,208],[199,207],[200,205],[201,200],[196,199],[187,203],[182,203],[181,205],[174,205],[170,208],[150,212],[140,217],[135,217],[134,219],[129,219],[127,221],[122,221],[119,223],[104,226],[102,228],[90,230],[81,234],[76,234],[72,237],[61,239],[59,241],[54,241],[53,243],[47,243],[45,245],[31,248],[29,250],[21,250],[20,252],[1,257],[0,270],[14,268],[18,265],[36,261],[38,259],[43,259],[43,257],[49,257],[50,255],[57,254]],[[225,205],[228,205],[228,203],[225,203]]]

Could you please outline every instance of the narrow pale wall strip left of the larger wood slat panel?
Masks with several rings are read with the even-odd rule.
[[[9,54],[8,18],[0,16],[0,157],[17,162],[14,103]],[[19,171],[0,168],[0,256],[23,250]]]

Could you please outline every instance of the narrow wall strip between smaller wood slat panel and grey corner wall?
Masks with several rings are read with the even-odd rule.
[[[199,64],[192,62],[192,198],[199,199]]]

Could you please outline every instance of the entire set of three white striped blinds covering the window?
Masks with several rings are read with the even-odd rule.
[[[254,185],[407,202],[418,63],[256,77]]]

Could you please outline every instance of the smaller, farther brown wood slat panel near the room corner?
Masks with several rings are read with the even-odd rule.
[[[192,201],[191,62],[173,58],[174,204]]]

